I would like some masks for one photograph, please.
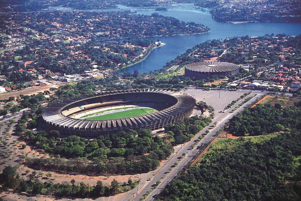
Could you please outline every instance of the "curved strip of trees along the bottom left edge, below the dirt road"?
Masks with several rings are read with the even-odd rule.
[[[0,174],[0,184],[22,192],[29,193],[31,191],[33,194],[63,197],[101,197],[129,191],[140,183],[140,180],[134,182],[132,179],[129,179],[128,182],[123,182],[123,184],[113,179],[111,185],[104,185],[100,180],[95,185],[84,182],[77,183],[75,179],[62,183],[54,183],[51,180],[41,182],[39,178],[43,176],[42,172],[38,174],[36,171],[33,171],[29,175],[29,179],[26,180],[22,179],[19,173],[16,173],[17,168],[18,166],[6,166],[2,174]],[[29,171],[26,171],[26,173],[29,173]],[[47,173],[46,176],[49,179],[52,175],[51,173]]]

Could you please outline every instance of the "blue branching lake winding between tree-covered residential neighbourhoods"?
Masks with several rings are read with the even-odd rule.
[[[129,8],[129,7],[123,7]],[[139,9],[131,9],[139,14],[151,15],[154,11],[145,11]],[[146,59],[138,64],[123,68],[120,72],[133,72],[138,69],[139,72],[154,71],[162,68],[167,62],[181,55],[187,49],[203,43],[207,40],[225,39],[235,36],[262,36],[265,34],[301,34],[301,23],[282,23],[282,22],[249,22],[241,24],[231,24],[227,22],[217,22],[208,12],[199,10],[167,10],[158,12],[163,16],[172,16],[180,21],[201,23],[209,27],[210,33],[188,35],[188,36],[166,36],[151,37],[155,41],[161,39],[166,45],[154,49]]]

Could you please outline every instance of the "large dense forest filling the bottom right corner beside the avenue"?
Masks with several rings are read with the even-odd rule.
[[[299,132],[218,140],[160,200],[300,200],[300,140]]]

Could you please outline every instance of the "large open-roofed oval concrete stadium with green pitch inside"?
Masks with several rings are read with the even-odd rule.
[[[90,138],[129,129],[157,130],[189,117],[195,103],[180,92],[107,91],[52,104],[42,117],[51,130]]]

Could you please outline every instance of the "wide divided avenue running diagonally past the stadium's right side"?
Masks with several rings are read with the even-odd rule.
[[[248,95],[246,98],[253,95],[254,94]],[[140,185],[142,186],[141,187],[139,186],[140,189],[138,190],[138,192],[134,193],[132,197],[125,196],[123,200],[135,200],[135,201],[139,200],[141,197],[143,197],[143,195],[146,194],[148,190],[151,190],[152,186],[156,185],[155,183],[158,180],[160,180],[161,184],[159,184],[157,188],[155,188],[154,190],[151,190],[151,193],[145,199],[146,201],[154,200],[156,196],[165,188],[166,184],[168,184],[175,176],[177,176],[178,172],[181,171],[182,168],[186,164],[188,164],[188,162],[191,161],[200,152],[200,149],[203,148],[204,143],[211,142],[211,140],[214,138],[213,135],[215,135],[216,132],[218,132],[219,129],[223,127],[225,123],[228,122],[229,119],[232,118],[232,116],[242,111],[247,104],[258,101],[260,96],[262,96],[262,94],[256,95],[256,97],[252,98],[249,102],[244,104],[242,107],[240,107],[233,113],[230,113],[232,109],[228,109],[225,113],[218,113],[216,117],[213,119],[213,122],[217,122],[216,127],[211,129],[210,133],[207,134],[193,149],[191,149],[190,147],[191,145],[194,144],[194,140],[197,140],[200,135],[202,135],[207,129],[209,129],[211,125],[213,125],[213,123],[206,126],[202,131],[196,134],[195,137],[188,143],[177,146],[175,148],[175,152],[161,164],[159,170],[157,170],[157,173],[155,173],[155,175],[151,178],[151,180],[148,182],[141,181],[142,184]],[[238,104],[240,103],[241,100],[238,101],[236,104],[234,104],[232,108],[237,107]],[[185,152],[186,152],[186,156],[183,159],[179,159],[180,157],[182,157],[182,154]],[[178,165],[174,167],[175,162],[177,162]],[[169,171],[169,168],[172,168],[172,170]]]

